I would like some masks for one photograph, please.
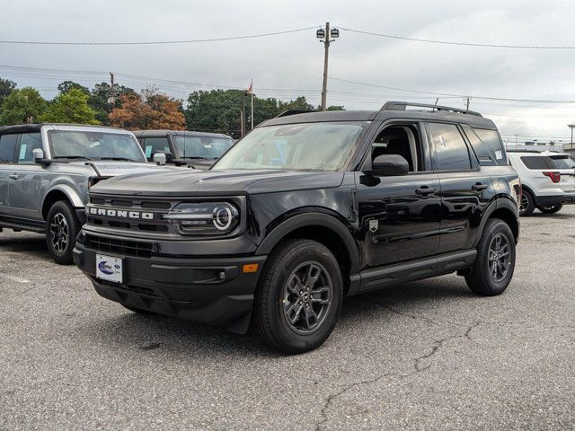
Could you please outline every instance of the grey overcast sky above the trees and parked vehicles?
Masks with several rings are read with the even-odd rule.
[[[571,2],[386,0],[351,2],[244,0],[4,0],[0,40],[149,41],[243,36],[333,26],[396,36],[507,45],[575,46]],[[341,30],[332,44],[333,78],[405,90],[512,99],[575,101],[575,49],[472,48],[390,40]],[[190,91],[245,88],[288,100],[299,94],[318,104],[323,45],[307,30],[250,40],[153,46],[30,46],[0,44],[0,77],[32,85],[44,97],[73,79],[92,87],[108,80],[135,89],[155,84],[185,99]],[[65,69],[22,71],[5,66]],[[82,71],[82,72],[78,72]],[[151,79],[128,77],[146,76]],[[266,89],[266,90],[262,90]],[[333,91],[333,92],[330,92]],[[392,91],[332,80],[328,103],[378,109],[386,100],[435,101],[435,95]],[[439,104],[464,107],[463,98]],[[472,99],[471,109],[494,119],[503,134],[540,140],[570,135],[575,103]],[[512,138],[514,139],[514,138]],[[522,139],[521,137],[519,138]],[[523,138],[525,140],[525,138]]]

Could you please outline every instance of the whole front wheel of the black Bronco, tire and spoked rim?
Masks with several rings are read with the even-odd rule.
[[[342,301],[341,269],[331,251],[311,240],[281,242],[260,276],[255,326],[270,347],[304,353],[329,338]]]

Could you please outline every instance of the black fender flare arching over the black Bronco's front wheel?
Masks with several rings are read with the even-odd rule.
[[[327,229],[330,229],[334,234],[338,236],[341,242],[344,244],[346,251],[349,254],[349,272],[350,274],[356,274],[359,270],[359,253],[351,233],[334,216],[329,216],[323,213],[304,213],[298,214],[296,216],[291,216],[288,220],[280,223],[276,226],[261,242],[256,254],[269,254],[273,248],[286,236],[288,233],[292,233],[296,229],[320,225]]]

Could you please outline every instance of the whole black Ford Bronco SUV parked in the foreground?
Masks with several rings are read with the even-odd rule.
[[[208,172],[94,186],[75,262],[129,310],[240,333],[252,320],[300,353],[329,337],[346,295],[453,272],[502,293],[520,192],[497,128],[473,111],[280,115]]]

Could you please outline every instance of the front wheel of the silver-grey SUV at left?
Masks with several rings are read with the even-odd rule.
[[[75,237],[82,225],[74,208],[66,200],[58,200],[46,217],[46,243],[52,259],[60,265],[72,263]]]

